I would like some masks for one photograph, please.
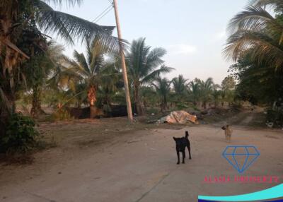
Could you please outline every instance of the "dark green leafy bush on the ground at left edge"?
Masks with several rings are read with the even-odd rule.
[[[23,153],[35,144],[39,133],[34,128],[35,122],[21,113],[14,113],[9,117],[6,132],[0,137],[1,153]]]

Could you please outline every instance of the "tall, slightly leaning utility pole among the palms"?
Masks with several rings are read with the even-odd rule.
[[[123,47],[123,44],[122,44],[122,41],[121,41],[122,35],[121,35],[121,30],[120,30],[117,0],[113,0],[113,6],[114,6],[114,11],[115,11],[117,34],[118,34],[119,46],[120,46],[121,66],[122,66],[122,73],[123,73],[123,79],[124,79],[124,88],[125,88],[125,94],[126,94],[128,118],[129,118],[129,121],[133,122],[132,105],[131,105],[131,98],[129,96],[129,83],[128,83],[128,77],[127,77],[127,68],[126,68],[126,62],[125,62],[124,47]]]

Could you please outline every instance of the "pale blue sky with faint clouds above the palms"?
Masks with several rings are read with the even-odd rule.
[[[175,71],[166,74],[173,78],[183,74],[194,78],[214,78],[215,83],[228,76],[233,61],[222,57],[226,42],[226,26],[236,13],[242,11],[248,0],[117,0],[122,37],[132,42],[146,37],[151,47],[167,50],[163,58]],[[62,6],[60,11],[94,20],[110,5],[110,0],[84,0],[81,6]],[[114,11],[98,21],[100,25],[115,25]],[[117,30],[113,32],[116,34]],[[64,44],[55,37],[57,42]],[[71,57],[76,49],[84,52],[83,44],[67,46],[65,53]]]

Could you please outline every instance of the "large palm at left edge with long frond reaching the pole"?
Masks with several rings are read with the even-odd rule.
[[[65,2],[71,6],[81,4],[81,0]],[[59,5],[62,1],[0,1],[1,78],[8,83],[1,85],[0,91],[3,100],[8,100],[11,105],[14,105],[16,90],[14,81],[16,76],[13,69],[35,56],[33,48],[28,48],[26,52],[27,49],[23,49],[23,44],[36,44],[36,47],[44,50],[46,37],[48,37],[45,34],[57,33],[70,44],[74,44],[74,38],[84,41],[86,38],[96,37],[100,44],[110,50],[117,50],[119,47],[117,39],[111,36],[114,27],[100,26],[67,13],[54,11],[48,4]]]

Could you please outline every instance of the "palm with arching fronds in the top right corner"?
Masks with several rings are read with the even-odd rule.
[[[229,36],[224,49],[228,59],[236,61],[250,54],[250,59],[259,64],[265,62],[275,69],[283,68],[283,21],[279,20],[283,11],[280,0],[253,0],[248,6],[234,16],[229,23]],[[275,8],[273,17],[265,6]]]

